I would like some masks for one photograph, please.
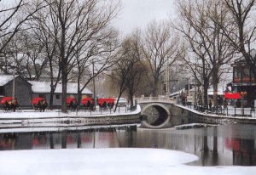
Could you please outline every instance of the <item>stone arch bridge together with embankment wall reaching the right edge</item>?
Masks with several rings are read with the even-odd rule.
[[[141,106],[141,126],[146,128],[174,127],[189,123],[243,123],[256,124],[256,119],[246,117],[217,116],[200,113],[196,110],[177,105],[170,98],[137,98]]]

